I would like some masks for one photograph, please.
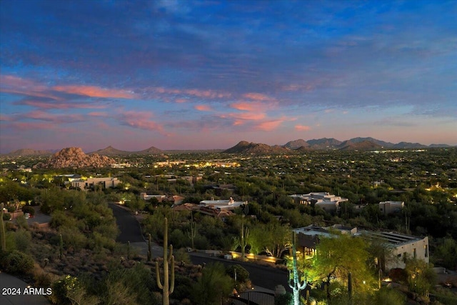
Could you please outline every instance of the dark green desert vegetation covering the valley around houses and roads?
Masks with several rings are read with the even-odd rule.
[[[240,252],[243,248],[246,254],[282,258],[286,268],[291,229],[309,224],[343,224],[427,235],[431,266],[450,270],[457,266],[457,149],[114,156],[119,163],[134,166],[32,172],[21,168],[39,159],[11,158],[1,159],[4,171],[0,176],[0,202],[5,208],[1,216],[4,231],[0,231],[4,244],[1,269],[36,286],[53,287],[54,304],[161,304],[163,293],[156,283],[156,259],[148,259],[127,244],[116,242],[119,229],[109,202],[122,202],[132,213],[139,214],[145,239],[151,234],[151,240],[158,244],[164,240],[168,219],[168,243],[174,247],[175,261],[175,286],[170,299],[181,304],[214,304],[211,300],[230,294],[235,286],[233,271],[219,265],[199,269],[191,264],[184,248]],[[184,162],[154,166],[166,160]],[[238,166],[218,166],[221,160]],[[121,184],[112,189],[84,191],[71,188],[68,179],[61,176],[64,174],[116,176]],[[188,176],[199,179],[192,182],[186,179]],[[289,197],[311,191],[327,191],[349,201],[331,214],[313,206],[294,204]],[[181,195],[185,198],[183,202],[189,203],[233,196],[248,201],[248,211],[237,209],[234,216],[215,218],[200,212],[174,211],[172,202],[144,201],[140,193]],[[405,208],[385,216],[377,204],[388,200],[404,201]],[[15,216],[16,211],[32,217],[36,213],[49,215],[49,226],[34,223],[34,218]],[[348,289],[348,271],[352,274],[354,300],[369,299],[381,304],[381,299],[392,299],[391,304],[403,304],[406,297],[414,296],[418,302],[452,304],[449,300],[456,298],[451,290],[431,285],[452,286],[453,279],[445,283],[433,278],[431,266],[413,260],[403,273],[393,274],[406,287],[404,291],[376,289],[378,271],[367,264],[373,251],[370,244],[358,240],[351,241],[359,243],[354,245],[337,242],[341,241],[323,242],[318,251],[330,253],[339,249],[343,251],[341,256],[330,257],[341,257],[341,261],[300,263],[308,286],[313,287],[308,293],[310,299],[343,304],[348,295],[344,292]],[[354,265],[353,259],[344,260],[345,253],[353,251],[360,251],[354,254],[361,258],[360,265]],[[160,259],[158,262],[162,266]],[[209,293],[203,288],[215,276],[226,279],[227,287],[216,289],[218,294],[214,296],[204,296],[206,303],[202,303],[199,300],[203,300],[203,294]],[[333,281],[335,278],[341,281]],[[365,283],[361,284],[361,278]],[[239,286],[247,287],[246,283],[248,276]]]

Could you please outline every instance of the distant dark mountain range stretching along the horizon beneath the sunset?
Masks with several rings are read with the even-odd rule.
[[[326,150],[326,149],[340,149],[340,150],[378,150],[378,149],[423,149],[423,148],[436,148],[436,147],[452,147],[447,144],[431,144],[423,145],[420,143],[400,142],[391,143],[381,141],[371,137],[366,138],[353,138],[346,141],[338,141],[333,138],[312,139],[305,141],[297,139],[288,141],[286,144],[279,146],[262,143],[253,143],[248,141],[240,141],[235,146],[222,150],[208,150],[208,151],[222,151],[226,154],[286,154],[292,151],[307,151],[307,150]],[[105,149],[93,151],[90,154],[99,154],[100,156],[126,156],[133,154],[150,155],[150,154],[164,154],[175,153],[180,151],[164,151],[154,146],[142,151],[123,151],[115,149],[113,146],[108,146]],[[186,151],[191,152],[191,151]],[[18,149],[11,151],[9,154],[3,156],[51,156],[55,151],[52,150],[34,150],[34,149]]]

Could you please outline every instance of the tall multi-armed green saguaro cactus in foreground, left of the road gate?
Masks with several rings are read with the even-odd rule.
[[[167,219],[165,219],[164,224],[164,281],[160,280],[159,272],[159,262],[156,261],[156,276],[157,276],[157,286],[159,289],[162,289],[162,305],[170,304],[170,294],[173,294],[174,291],[174,256],[173,256],[173,246],[170,245],[169,253],[166,248],[169,243],[169,225]],[[171,279],[169,279],[169,265],[171,269]]]

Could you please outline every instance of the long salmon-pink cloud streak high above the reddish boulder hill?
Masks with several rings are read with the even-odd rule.
[[[136,97],[135,94],[126,90],[106,89],[99,86],[65,85],[54,86],[52,89],[67,94],[78,94],[91,97],[111,97],[117,99],[134,99]]]

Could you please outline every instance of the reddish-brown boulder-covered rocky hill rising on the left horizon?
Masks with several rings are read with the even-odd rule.
[[[87,155],[79,147],[69,147],[51,156],[48,162],[36,164],[35,167],[54,169],[105,167],[115,163],[116,161],[108,156],[99,156],[99,154]]]

